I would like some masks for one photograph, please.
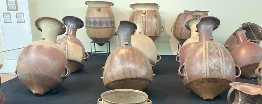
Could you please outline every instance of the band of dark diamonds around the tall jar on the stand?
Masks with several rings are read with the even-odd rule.
[[[86,17],[87,28],[115,28],[114,17]]]

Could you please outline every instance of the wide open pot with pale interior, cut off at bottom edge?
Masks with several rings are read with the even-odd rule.
[[[152,101],[143,91],[116,89],[102,93],[97,104],[152,104]]]

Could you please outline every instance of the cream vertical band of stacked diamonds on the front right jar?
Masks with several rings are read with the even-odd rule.
[[[203,42],[203,72],[205,76],[213,78],[223,78],[224,72],[224,54],[219,44],[216,42]]]

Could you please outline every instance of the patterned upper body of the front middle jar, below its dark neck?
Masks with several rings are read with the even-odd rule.
[[[104,81],[125,78],[148,78],[153,80],[153,71],[145,55],[132,46],[122,46],[109,55],[104,68]]]

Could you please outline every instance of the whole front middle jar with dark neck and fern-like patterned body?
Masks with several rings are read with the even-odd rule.
[[[148,58],[131,45],[131,34],[136,28],[131,21],[120,21],[116,32],[119,47],[108,56],[101,77],[109,90],[144,90],[152,83],[153,71]]]

